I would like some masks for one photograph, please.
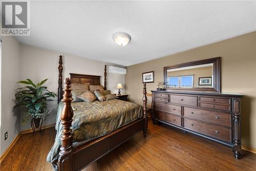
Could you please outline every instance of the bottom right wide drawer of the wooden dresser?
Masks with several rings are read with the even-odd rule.
[[[219,140],[231,142],[231,129],[223,126],[211,125],[184,118],[184,128]]]

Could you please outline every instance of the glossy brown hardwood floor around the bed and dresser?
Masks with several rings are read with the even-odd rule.
[[[54,143],[53,127],[22,135],[4,161],[1,171],[53,170],[46,156]],[[90,155],[90,154],[88,154]],[[256,170],[256,154],[243,151],[233,157],[231,148],[149,122],[147,138],[142,132],[83,171],[96,170]]]

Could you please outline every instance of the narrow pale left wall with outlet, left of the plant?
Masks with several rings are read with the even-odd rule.
[[[1,155],[20,130],[19,111],[13,110],[15,90],[19,79],[19,42],[12,36],[4,36],[1,56]],[[8,132],[8,139],[4,139]]]

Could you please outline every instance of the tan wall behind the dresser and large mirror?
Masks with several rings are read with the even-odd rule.
[[[242,145],[256,148],[256,32],[127,67],[126,93],[142,103],[142,73],[155,71],[163,81],[163,67],[221,56],[222,92],[242,93]],[[147,83],[147,91],[156,90]]]

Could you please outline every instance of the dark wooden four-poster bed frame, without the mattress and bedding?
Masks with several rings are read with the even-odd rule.
[[[108,154],[114,148],[130,139],[133,135],[143,131],[146,138],[147,132],[147,115],[146,115],[146,83],[143,84],[143,112],[141,118],[122,125],[115,131],[96,138],[92,141],[74,143],[72,134],[72,118],[74,115],[71,102],[72,83],[90,83],[92,85],[100,85],[100,76],[70,74],[70,78],[65,80],[64,94],[62,91],[62,56],[59,56],[59,77],[58,77],[58,102],[63,102],[63,109],[60,115],[62,124],[62,135],[60,137],[61,147],[58,159],[55,161],[59,171],[81,170],[92,162],[98,160],[105,154]],[[104,90],[106,90],[106,65],[104,66]],[[63,97],[63,99],[62,99]],[[114,99],[116,100],[116,99]],[[121,102],[121,100],[118,100]],[[122,101],[123,102],[123,101]],[[124,102],[123,102],[124,103]],[[131,102],[126,102],[131,103]],[[132,103],[131,103],[132,104]],[[140,107],[141,108],[141,107]],[[57,138],[57,137],[56,137]]]

